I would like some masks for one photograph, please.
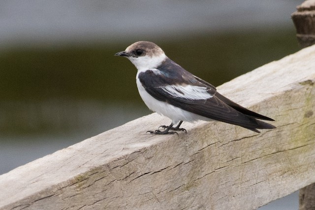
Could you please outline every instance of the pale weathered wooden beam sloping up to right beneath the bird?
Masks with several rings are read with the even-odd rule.
[[[0,209],[256,209],[315,182],[315,46],[218,90],[274,118],[261,134],[151,114],[0,175]]]

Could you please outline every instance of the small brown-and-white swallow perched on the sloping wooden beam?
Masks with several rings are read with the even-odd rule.
[[[225,98],[212,84],[193,75],[169,59],[150,41],[137,41],[115,56],[126,57],[136,67],[136,84],[144,103],[154,112],[172,120],[151,134],[178,134],[183,121],[221,121],[253,132],[274,129],[261,120],[275,121]],[[162,128],[160,130],[160,128]]]

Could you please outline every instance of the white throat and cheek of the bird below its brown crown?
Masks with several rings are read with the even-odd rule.
[[[141,56],[138,58],[128,57],[131,63],[137,68],[138,71],[155,69],[157,68],[165,59],[166,55],[164,53],[158,56]]]

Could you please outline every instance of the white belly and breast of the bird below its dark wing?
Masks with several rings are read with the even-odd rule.
[[[139,94],[143,100],[143,102],[152,110],[157,112],[160,115],[166,116],[172,120],[173,125],[177,125],[179,121],[187,121],[194,122],[197,120],[206,120],[209,121],[211,119],[202,117],[200,115],[191,113],[189,111],[183,110],[174,105],[170,105],[166,102],[158,101],[153,98],[142,86],[138,76],[136,78],[137,87]]]

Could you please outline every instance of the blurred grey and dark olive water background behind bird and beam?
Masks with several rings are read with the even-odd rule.
[[[136,69],[113,56],[131,43],[218,86],[298,51],[302,2],[0,1],[0,174],[151,113]],[[297,208],[295,193],[260,209]]]

